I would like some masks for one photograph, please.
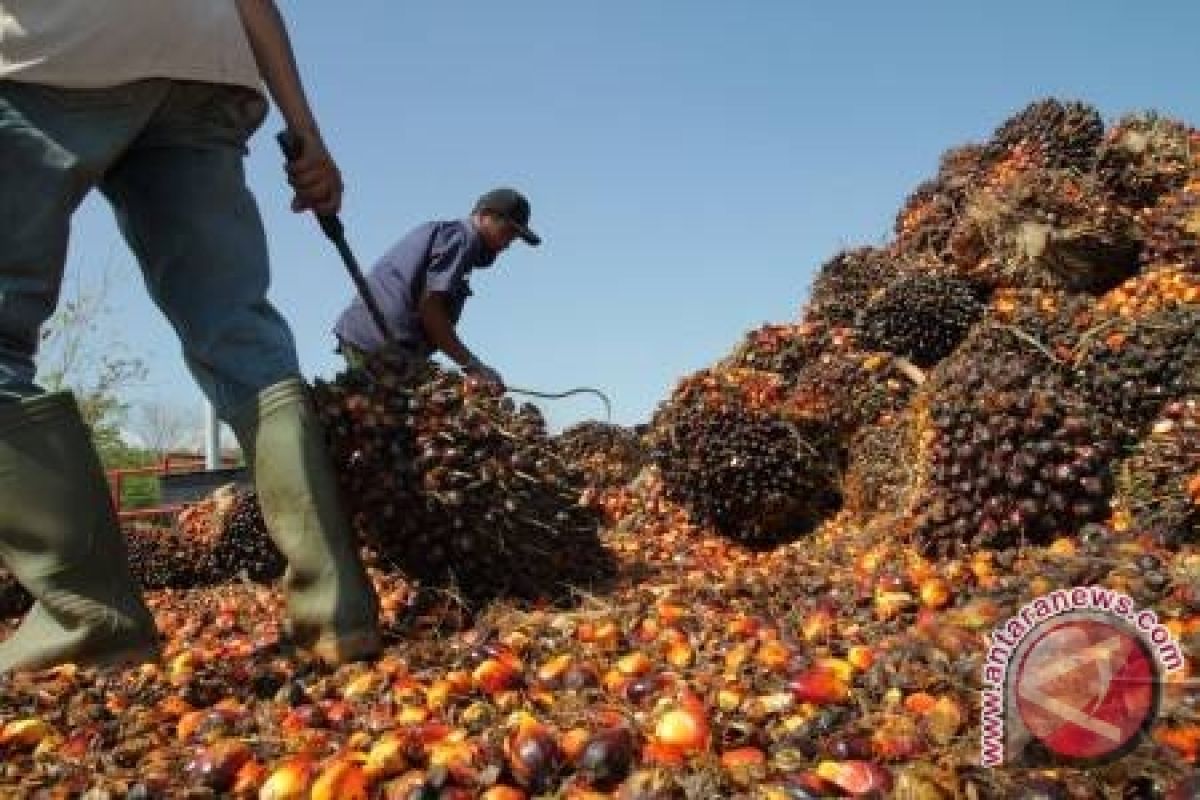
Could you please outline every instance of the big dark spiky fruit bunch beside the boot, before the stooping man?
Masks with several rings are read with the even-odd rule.
[[[330,452],[373,564],[474,606],[558,597],[602,579],[578,470],[533,407],[433,365],[376,359],[313,387]]]

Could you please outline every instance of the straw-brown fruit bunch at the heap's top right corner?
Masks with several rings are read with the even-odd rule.
[[[1140,209],[1181,188],[1198,154],[1200,132],[1153,113],[1129,114],[1104,136],[1096,170],[1118,203]]]

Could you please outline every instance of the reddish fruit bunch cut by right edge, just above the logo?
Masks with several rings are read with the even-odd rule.
[[[1177,548],[1200,535],[1200,399],[1172,399],[1117,469],[1114,518]]]

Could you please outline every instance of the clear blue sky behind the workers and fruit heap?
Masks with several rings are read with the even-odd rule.
[[[596,386],[643,421],[743,332],[794,319],[815,270],[890,236],[947,148],[1048,96],[1106,121],[1200,124],[1200,4],[518,0],[287,2],[307,88],[347,184],[364,266],[412,225],[524,191],[538,249],[478,273],[460,332],[509,383]],[[329,329],[353,287],[287,209],[272,114],[248,175],[272,297],[306,375],[340,365]],[[113,261],[142,397],[199,414],[174,337],[112,216],[77,218],[70,270]],[[554,426],[594,401],[546,403]]]

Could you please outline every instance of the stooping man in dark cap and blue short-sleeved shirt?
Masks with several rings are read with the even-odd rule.
[[[529,229],[529,201],[512,188],[487,192],[466,219],[426,222],[410,230],[367,275],[386,335],[361,297],[337,320],[334,332],[347,363],[362,366],[367,355],[384,350],[401,362],[440,350],[467,374],[503,389],[500,374],[462,343],[455,326],[472,294],[470,272],[494,264],[516,237],[541,243]]]

